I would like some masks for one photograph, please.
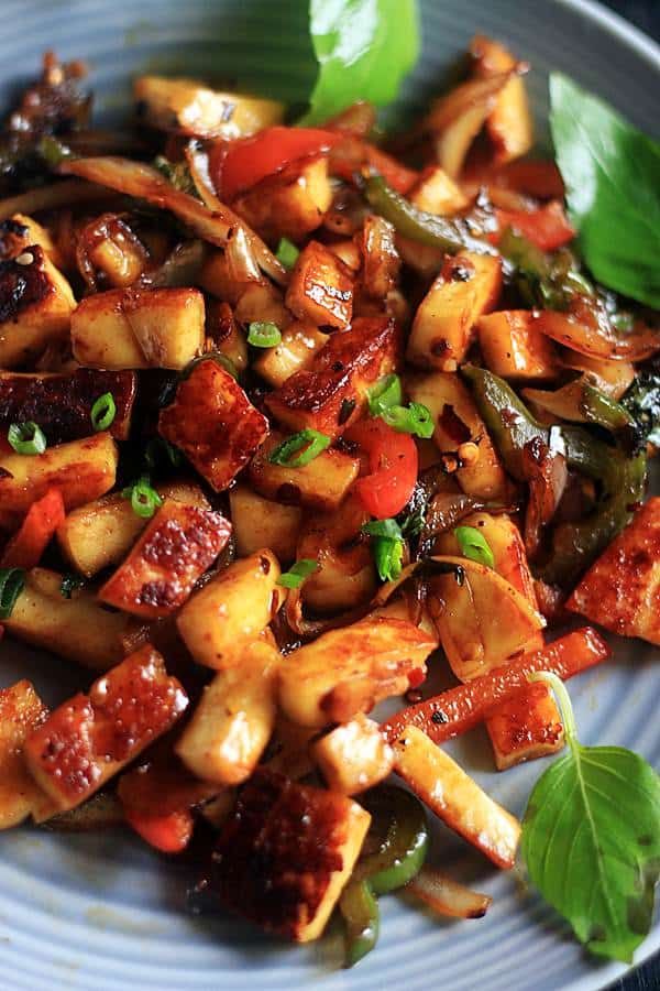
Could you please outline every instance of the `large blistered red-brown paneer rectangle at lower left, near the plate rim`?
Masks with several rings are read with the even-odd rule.
[[[188,697],[145,644],[55,709],[25,740],[25,761],[58,809],[89,798],[182,716]]]

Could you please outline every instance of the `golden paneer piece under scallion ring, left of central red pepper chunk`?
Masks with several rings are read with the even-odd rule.
[[[250,464],[250,481],[257,492],[287,505],[331,512],[339,508],[360,472],[360,461],[330,448],[301,468],[274,465],[268,458],[283,434],[271,434]]]

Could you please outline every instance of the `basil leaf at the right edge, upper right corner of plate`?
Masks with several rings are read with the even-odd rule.
[[[596,279],[660,307],[660,143],[560,73],[550,128],[572,222]]]

